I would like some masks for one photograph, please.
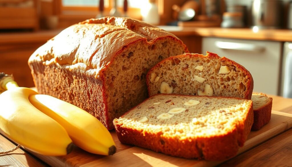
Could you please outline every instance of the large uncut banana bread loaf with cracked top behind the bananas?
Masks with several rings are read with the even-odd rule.
[[[114,118],[148,97],[148,70],[184,52],[180,39],[158,27],[105,17],[66,28],[28,63],[39,93],[74,104],[113,129]]]

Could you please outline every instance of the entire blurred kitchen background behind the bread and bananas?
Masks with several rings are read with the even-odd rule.
[[[29,56],[62,29],[103,16],[157,25],[190,52],[211,51],[243,65],[254,92],[292,98],[289,0],[0,0],[0,71],[33,87]]]

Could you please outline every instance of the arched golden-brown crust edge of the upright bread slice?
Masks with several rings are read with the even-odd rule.
[[[251,99],[251,95],[252,95],[252,92],[253,92],[253,78],[251,76],[251,73],[246,69],[244,68],[243,66],[241,66],[240,64],[236,63],[235,61],[232,61],[226,57],[220,57],[218,56],[217,54],[215,53],[212,53],[212,52],[208,52],[207,51],[207,54],[206,56],[203,55],[203,54],[194,54],[194,53],[185,53],[185,54],[182,54],[182,55],[177,55],[177,56],[171,56],[171,57],[168,57],[164,60],[162,60],[161,62],[157,63],[156,66],[152,67],[149,72],[147,73],[146,75],[146,83],[147,83],[147,89],[148,89],[148,92],[150,92],[150,89],[149,89],[149,86],[150,85],[150,80],[149,80],[149,75],[152,73],[152,71],[154,71],[154,69],[156,68],[159,68],[159,66],[161,66],[161,64],[163,64],[165,61],[169,61],[169,60],[173,60],[175,58],[180,58],[180,57],[201,57],[201,58],[210,58],[210,59],[219,59],[220,61],[228,61],[230,62],[233,66],[236,66],[237,68],[241,69],[245,74],[246,76],[248,76],[249,80],[248,80],[248,83],[246,83],[247,87],[247,91],[246,91],[246,94],[244,95],[244,99]]]

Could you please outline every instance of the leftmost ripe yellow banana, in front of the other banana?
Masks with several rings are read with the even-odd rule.
[[[37,93],[25,87],[13,87],[0,94],[1,130],[16,143],[36,153],[48,156],[68,154],[72,150],[72,140],[59,123],[29,102],[29,96],[34,94]]]

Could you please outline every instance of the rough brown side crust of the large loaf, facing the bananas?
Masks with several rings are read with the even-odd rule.
[[[100,80],[88,78],[83,73],[74,73],[64,68],[58,68],[55,64],[44,66],[32,63],[30,68],[38,70],[35,73],[32,70],[32,76],[40,94],[49,94],[79,106],[98,118],[106,128],[111,128],[109,125],[111,125],[112,120],[109,120],[106,113],[105,89]]]

